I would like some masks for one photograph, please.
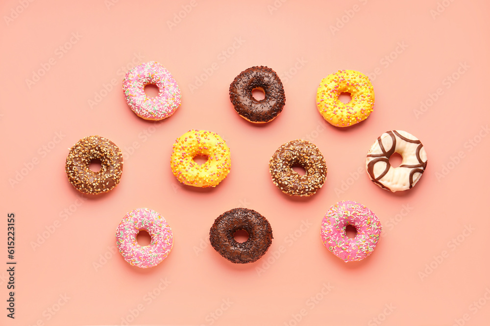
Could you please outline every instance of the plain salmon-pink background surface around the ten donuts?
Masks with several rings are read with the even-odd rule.
[[[0,4],[0,244],[13,212],[17,261],[15,320],[5,316],[0,269],[1,325],[488,323],[488,1],[109,1]],[[182,106],[158,123],[138,118],[122,91],[127,69],[150,60],[182,91]],[[287,98],[263,126],[239,117],[228,95],[253,65],[274,69]],[[346,129],[315,105],[320,80],[338,69],[369,74],[376,94],[368,120]],[[32,85],[34,72],[42,76]],[[172,144],[190,129],[218,132],[231,149],[232,171],[215,189],[172,175]],[[364,170],[370,145],[392,129],[417,136],[429,160],[400,194]],[[94,134],[123,150],[123,176],[109,194],[81,196],[65,159]],[[270,180],[270,156],[296,138],[327,162],[310,198],[286,196]],[[344,263],[320,241],[323,215],[343,199],[367,205],[384,226],[361,262]],[[119,221],[138,207],[161,213],[175,239],[148,270],[111,252]],[[209,245],[214,219],[235,207],[272,226],[255,263],[232,264]]]

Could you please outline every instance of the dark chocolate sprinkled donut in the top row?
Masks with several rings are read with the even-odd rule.
[[[262,89],[263,100],[256,100],[252,90]],[[233,108],[244,119],[253,123],[272,121],[281,113],[286,96],[276,72],[266,66],[254,66],[242,71],[230,85]]]

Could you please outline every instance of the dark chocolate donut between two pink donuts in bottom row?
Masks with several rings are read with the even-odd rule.
[[[234,234],[238,230],[248,234],[245,242],[235,240]],[[272,228],[269,221],[256,211],[234,208],[216,218],[209,230],[209,241],[222,257],[246,264],[264,256],[272,243]]]

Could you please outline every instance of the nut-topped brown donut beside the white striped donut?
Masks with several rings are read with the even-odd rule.
[[[306,174],[300,175],[293,166],[301,166]],[[272,182],[290,196],[311,196],[325,182],[327,165],[318,147],[307,140],[287,142],[270,158],[269,172]]]

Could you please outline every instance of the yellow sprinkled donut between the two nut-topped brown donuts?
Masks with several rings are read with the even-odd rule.
[[[199,165],[197,155],[208,160]],[[177,138],[170,158],[173,175],[179,182],[194,187],[216,187],[230,172],[230,149],[216,132],[189,130]]]

